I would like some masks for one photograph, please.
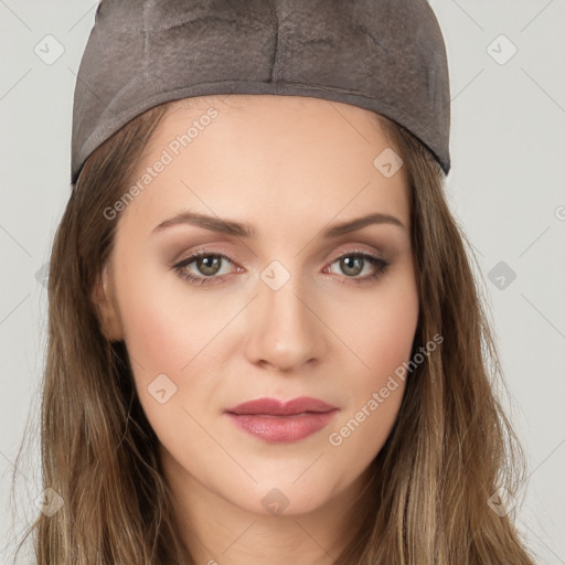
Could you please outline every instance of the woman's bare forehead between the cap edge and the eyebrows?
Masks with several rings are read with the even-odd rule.
[[[166,153],[170,162],[136,200],[162,220],[182,207],[253,223],[258,213],[266,222],[288,214],[328,223],[382,212],[408,226],[403,169],[387,178],[375,164],[391,149],[376,115],[358,106],[301,96],[188,98],[170,104],[153,131],[138,177]]]

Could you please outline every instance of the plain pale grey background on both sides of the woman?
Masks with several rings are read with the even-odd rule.
[[[447,195],[478,259],[502,399],[527,457],[515,513],[539,563],[565,564],[565,0],[430,4],[451,81]],[[73,90],[96,6],[0,0],[0,564],[41,493],[42,268],[70,195]],[[17,461],[23,437],[30,455]]]

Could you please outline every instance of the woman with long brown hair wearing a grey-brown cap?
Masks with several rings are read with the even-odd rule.
[[[519,446],[443,192],[449,96],[427,4],[319,3],[308,20],[305,4],[274,2],[268,28],[267,3],[204,17],[143,2],[138,74],[102,41],[141,36],[128,6],[100,4],[82,76],[96,53],[116,68],[75,97],[49,279],[39,563],[532,564],[499,500],[522,478]],[[377,12],[390,36],[371,28]],[[247,66],[214,50],[236,52],[225,34],[245,30],[264,56],[249,68],[267,62],[262,84],[278,72],[278,89],[190,90],[183,75],[175,90],[163,54],[181,30],[216,64],[194,63],[199,76],[226,77]],[[289,56],[335,30],[329,75],[313,65],[326,47]],[[374,45],[404,52],[367,87]],[[292,68],[311,70],[303,95],[284,89]],[[328,76],[349,90],[320,93]],[[352,95],[363,88],[374,107]]]

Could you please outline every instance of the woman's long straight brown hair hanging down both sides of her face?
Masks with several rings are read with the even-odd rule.
[[[134,119],[90,156],[55,234],[41,458],[43,487],[64,504],[51,516],[41,513],[20,544],[34,534],[38,565],[194,563],[126,345],[104,337],[92,300],[117,225],[104,210],[129,186],[169,106]],[[532,565],[511,514],[500,516],[488,504],[499,488],[515,493],[525,469],[494,394],[503,380],[470,246],[429,150],[372,116],[408,179],[420,303],[413,352],[436,334],[444,341],[406,380],[396,423],[371,465],[362,525],[337,563]]]

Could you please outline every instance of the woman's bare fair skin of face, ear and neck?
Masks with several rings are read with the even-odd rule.
[[[329,436],[409,360],[417,326],[404,169],[386,178],[374,167],[390,143],[369,110],[231,95],[175,105],[153,132],[140,174],[211,106],[218,116],[113,220],[115,247],[94,298],[107,337],[126,341],[196,563],[330,564],[332,542],[355,525],[363,497],[354,502],[396,419],[402,380],[341,445]],[[186,210],[247,223],[258,236],[188,223],[153,232]],[[404,227],[321,235],[372,212]],[[233,263],[218,259],[215,284],[192,285],[172,266],[203,246]],[[348,270],[339,258],[353,250],[390,266],[376,279],[367,277],[379,265],[367,259]],[[290,277],[277,290],[262,278],[274,260]],[[195,260],[186,270],[211,271]],[[148,391],[160,374],[177,386],[163,404]],[[302,440],[269,444],[224,414],[264,396],[313,396],[339,412]],[[277,515],[262,503],[274,488],[288,502]]]

